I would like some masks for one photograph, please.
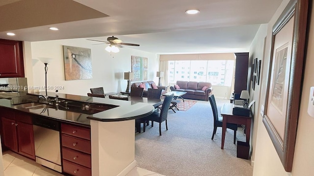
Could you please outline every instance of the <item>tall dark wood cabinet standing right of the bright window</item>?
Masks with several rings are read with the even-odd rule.
[[[235,53],[235,92],[241,93],[247,89],[249,68],[249,53]]]

